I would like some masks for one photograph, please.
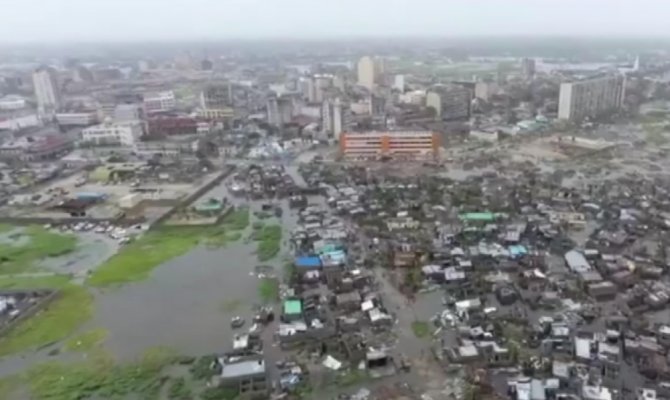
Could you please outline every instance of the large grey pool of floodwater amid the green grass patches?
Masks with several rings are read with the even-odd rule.
[[[282,206],[285,239],[297,218],[287,202]],[[252,212],[257,209],[260,202],[252,204]],[[253,269],[261,263],[254,254],[256,244],[245,241],[250,232],[248,228],[241,240],[224,248],[200,247],[172,259],[146,281],[97,293],[96,316],[89,326],[109,330],[106,347],[121,359],[152,346],[188,355],[227,351],[234,335],[231,318],[245,318],[242,330],[248,329],[253,305],[259,302]],[[262,264],[281,274],[282,254]]]

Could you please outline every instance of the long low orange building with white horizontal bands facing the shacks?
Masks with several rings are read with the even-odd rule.
[[[435,159],[440,138],[431,131],[347,132],[340,135],[340,154],[347,159]]]

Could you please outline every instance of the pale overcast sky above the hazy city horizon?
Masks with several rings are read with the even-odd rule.
[[[664,36],[670,0],[0,0],[0,42]]]

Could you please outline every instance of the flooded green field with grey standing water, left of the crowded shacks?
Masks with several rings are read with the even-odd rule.
[[[77,237],[0,226],[0,250],[11,250],[0,262],[0,289],[60,292],[0,339],[0,371],[18,372],[0,376],[0,393],[36,400],[234,398],[207,387],[212,371],[203,365],[211,360],[200,357],[230,346],[233,316],[250,319],[255,304],[277,299],[278,281],[253,271],[264,261],[281,272],[282,233],[295,223],[288,214],[281,225],[268,221],[253,230],[248,208],[215,226],[159,227],[87,268],[85,279],[38,263],[67,260]],[[108,287],[114,289],[101,290]],[[195,357],[177,356],[183,354]],[[3,368],[23,358],[29,361],[21,369]]]

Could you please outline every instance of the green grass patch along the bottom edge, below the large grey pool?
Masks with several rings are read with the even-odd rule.
[[[119,399],[130,395],[157,398],[165,380],[163,369],[174,360],[172,352],[157,348],[137,362],[116,365],[105,354],[78,364],[44,363],[28,370],[24,379],[34,400]]]

